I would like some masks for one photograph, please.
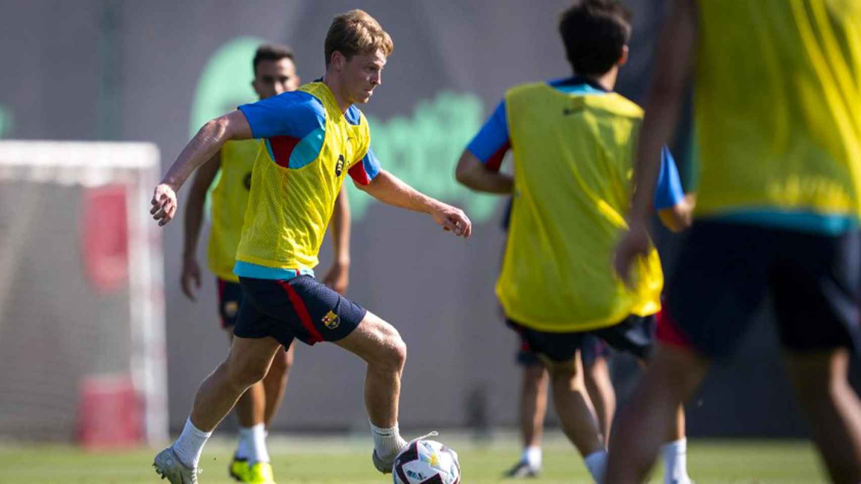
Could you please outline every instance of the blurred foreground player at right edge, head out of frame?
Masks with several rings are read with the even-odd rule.
[[[847,379],[861,294],[861,3],[676,0],[672,9],[618,272],[647,251],[653,156],[693,72],[699,195],[667,286],[666,330],[611,438],[609,481],[646,479],[673,408],[734,352],[771,292],[827,472],[861,482],[861,402]]]

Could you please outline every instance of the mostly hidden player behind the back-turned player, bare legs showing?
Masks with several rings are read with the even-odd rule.
[[[511,200],[505,206],[502,228],[508,231],[511,221]],[[517,365],[522,369],[520,386],[520,436],[523,454],[505,477],[537,477],[542,470],[542,435],[544,417],[547,415],[548,373],[541,358],[530,348],[530,344],[518,337]],[[580,359],[583,362],[583,377],[589,399],[592,401],[598,428],[604,441],[610,437],[610,423],[616,409],[616,390],[610,379],[610,348],[600,338],[584,338]]]

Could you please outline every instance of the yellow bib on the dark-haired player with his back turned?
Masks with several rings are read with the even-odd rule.
[[[604,328],[660,309],[654,249],[629,291],[611,264],[627,227],[642,110],[621,95],[567,94],[545,83],[506,97],[515,199],[496,286],[505,313],[540,331]]]

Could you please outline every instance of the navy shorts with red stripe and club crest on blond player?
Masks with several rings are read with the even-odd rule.
[[[338,341],[362,322],[367,311],[310,275],[293,279],[239,278],[245,301],[233,334],[271,336],[285,348],[294,338],[307,345]]]

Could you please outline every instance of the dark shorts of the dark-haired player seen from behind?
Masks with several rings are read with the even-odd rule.
[[[583,350],[593,339],[603,340],[616,350],[628,352],[637,358],[648,358],[654,346],[654,316],[628,316],[623,322],[609,328],[573,333],[538,331],[511,319],[508,325],[520,334],[532,352],[557,362],[573,358],[578,350]]]

